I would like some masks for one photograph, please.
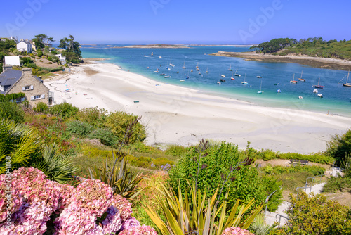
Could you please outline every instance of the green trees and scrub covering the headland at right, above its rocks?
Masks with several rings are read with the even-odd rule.
[[[258,46],[252,46],[251,49],[260,53],[274,53],[279,56],[302,54],[312,57],[348,60],[351,58],[351,40],[324,41],[322,37],[310,37],[300,40],[289,38],[272,39],[269,42],[260,43]]]

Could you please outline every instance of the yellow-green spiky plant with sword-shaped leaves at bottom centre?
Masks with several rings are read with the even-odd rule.
[[[166,223],[149,205],[147,205],[145,211],[159,228],[161,234],[164,235],[183,235],[193,234],[194,232],[203,235],[220,235],[229,227],[247,229],[262,209],[262,206],[254,209],[251,211],[251,215],[244,219],[243,215],[251,208],[253,200],[247,205],[239,205],[238,200],[231,209],[229,216],[226,217],[228,193],[225,194],[223,203],[218,205],[216,203],[218,189],[211,198],[207,197],[206,191],[202,193],[197,190],[195,184],[192,184],[190,193],[185,192],[184,198],[180,184],[178,184],[178,196],[173,190],[168,190],[164,184],[161,184],[161,189],[158,190],[166,198],[165,201],[157,199],[157,203],[166,217]]]

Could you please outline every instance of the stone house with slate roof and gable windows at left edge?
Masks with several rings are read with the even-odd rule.
[[[36,106],[43,102],[48,106],[53,104],[53,92],[43,84],[43,80],[32,74],[32,68],[13,70],[11,66],[4,66],[0,74],[0,94],[24,93],[29,106]],[[18,100],[15,102],[22,102]]]

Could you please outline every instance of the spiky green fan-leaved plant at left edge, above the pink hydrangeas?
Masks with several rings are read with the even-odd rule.
[[[4,173],[6,156],[11,158],[11,169],[27,166],[30,160],[39,158],[41,141],[32,127],[0,120],[0,174]]]

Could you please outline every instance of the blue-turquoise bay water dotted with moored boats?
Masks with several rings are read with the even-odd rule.
[[[199,89],[208,94],[250,101],[260,106],[313,110],[321,113],[327,113],[330,110],[330,113],[334,115],[351,116],[351,88],[343,87],[338,83],[343,77],[347,77],[347,71],[311,68],[296,63],[265,63],[245,61],[243,58],[208,55],[217,51],[249,51],[249,47],[191,46],[187,49],[110,49],[99,45],[82,46],[81,51],[83,57],[108,58],[109,60],[104,62],[114,63],[121,66],[123,70],[144,75],[160,83]],[[170,63],[175,66],[171,67]],[[186,69],[182,68],[184,63]],[[196,70],[197,64],[200,71]],[[233,72],[237,70],[241,77],[234,76],[235,80],[231,80],[233,72],[229,71],[230,66]],[[157,68],[159,72],[154,73],[153,71]],[[295,74],[295,80],[298,80],[302,71],[306,82],[290,83],[293,75]],[[164,78],[159,75],[160,73],[171,77]],[[247,85],[241,84],[245,74],[246,82],[249,82]],[[188,75],[190,79],[186,79]],[[225,82],[217,84],[223,78],[221,75],[225,75]],[[263,78],[257,78],[258,75]],[[319,98],[312,92],[315,89],[313,86],[318,84],[319,77],[319,84],[323,85],[324,89],[318,89],[318,94],[322,94],[323,98]],[[346,77],[343,82],[346,82]],[[180,82],[180,80],[185,80],[185,82]],[[257,94],[261,84],[264,92]],[[277,89],[282,92],[277,93]],[[298,96],[303,96],[303,99],[298,99]]]

